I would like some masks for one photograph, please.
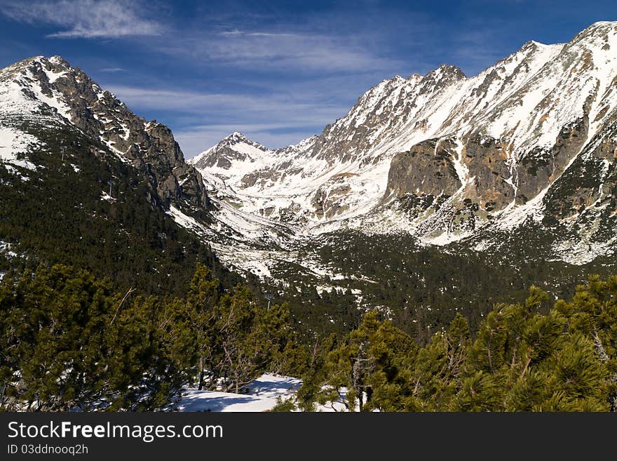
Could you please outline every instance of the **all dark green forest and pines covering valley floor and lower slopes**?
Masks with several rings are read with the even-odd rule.
[[[0,241],[18,253],[0,258],[3,409],[170,408],[186,385],[238,392],[267,370],[302,378],[303,410],[617,410],[617,278],[555,305],[542,291],[566,298],[609,257],[548,264],[531,227],[492,253],[350,232],[299,249],[343,274],[325,281],[339,290],[298,272],[268,309],[137,169],[79,133],[62,161],[36,135],[28,180],[0,166]]]

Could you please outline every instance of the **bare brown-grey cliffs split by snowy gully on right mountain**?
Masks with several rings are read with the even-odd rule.
[[[562,128],[550,148],[536,147],[511,166],[509,140],[473,135],[466,140],[461,162],[472,178],[463,199],[477,203],[487,213],[497,213],[513,200],[527,203],[562,175],[588,135],[588,117]],[[427,140],[393,157],[384,201],[403,194],[452,196],[461,187],[452,159],[456,145],[449,140]]]

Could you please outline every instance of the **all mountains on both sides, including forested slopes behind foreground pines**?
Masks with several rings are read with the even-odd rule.
[[[287,302],[304,333],[377,307],[426,342],[536,284],[616,269],[617,23],[476,76],[395,76],[320,135],[232,133],[194,159],[80,69],[0,72],[0,273],[64,262],[142,293],[196,262]]]

